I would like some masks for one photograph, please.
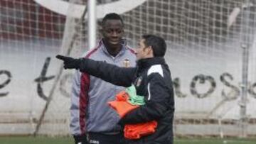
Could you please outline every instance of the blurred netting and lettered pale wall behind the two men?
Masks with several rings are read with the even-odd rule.
[[[9,136],[69,138],[73,71],[61,72],[55,55],[90,49],[88,18],[80,18],[86,5],[0,0],[0,143]],[[165,38],[176,143],[256,143],[247,141],[256,138],[256,1],[97,0],[96,10],[97,25],[110,11],[122,16],[132,48],[146,33]]]

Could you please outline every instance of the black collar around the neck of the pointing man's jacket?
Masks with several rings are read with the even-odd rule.
[[[152,65],[164,65],[166,64],[164,57],[151,57],[145,58],[137,61],[137,66],[139,69],[144,69],[151,67]]]

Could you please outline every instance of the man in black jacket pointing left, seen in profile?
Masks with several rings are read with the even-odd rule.
[[[137,94],[144,96],[145,105],[127,113],[119,123],[144,123],[157,121],[156,132],[138,140],[125,140],[126,143],[172,144],[174,118],[174,89],[171,72],[164,60],[166,43],[156,35],[143,35],[136,50],[137,67],[124,68],[89,60],[74,59],[57,55],[63,60],[65,69],[79,69],[107,82],[123,87],[132,84]]]

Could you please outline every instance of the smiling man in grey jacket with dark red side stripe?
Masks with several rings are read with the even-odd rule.
[[[96,48],[83,56],[119,67],[134,67],[136,56],[127,46],[124,35],[124,23],[117,13],[108,13],[101,23],[102,40]],[[71,94],[70,130],[76,144],[119,144],[122,129],[117,124],[119,116],[107,101],[124,87],[117,87],[86,72],[75,72]]]

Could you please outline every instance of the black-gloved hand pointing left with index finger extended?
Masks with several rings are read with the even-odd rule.
[[[64,55],[56,55],[56,58],[63,60],[64,69],[76,69],[80,67],[81,59],[76,59],[73,57],[66,57]]]

